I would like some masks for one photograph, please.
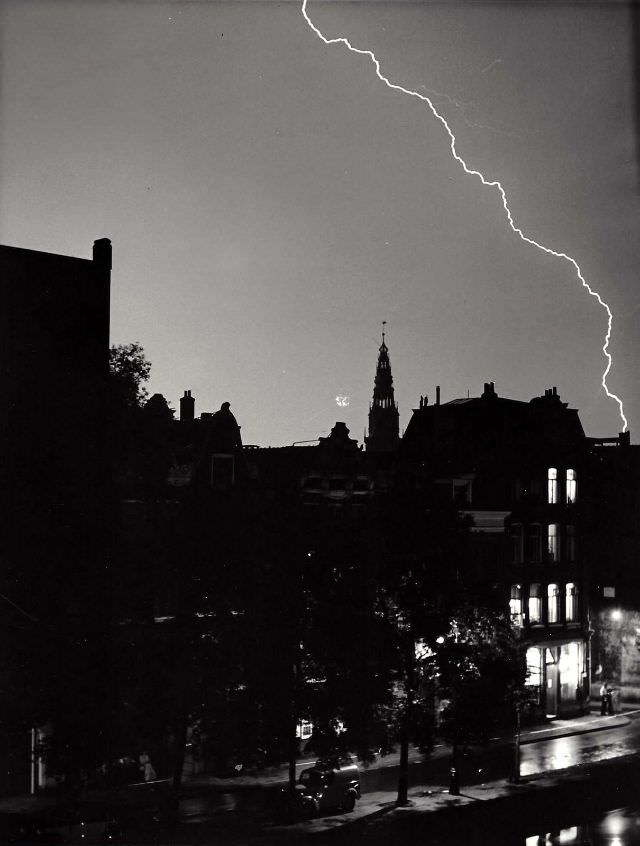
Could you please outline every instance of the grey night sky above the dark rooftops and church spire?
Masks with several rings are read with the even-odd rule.
[[[322,2],[328,38],[429,94],[517,225],[569,253],[613,312],[609,386],[632,438],[640,202],[629,7]],[[345,420],[362,437],[387,340],[402,425],[420,394],[530,399],[557,385],[587,434],[606,313],[522,243],[425,104],[326,46],[297,2],[0,3],[0,240],[114,246],[112,340],[151,390],[228,400],[245,443]],[[446,95],[446,96],[445,96]],[[350,397],[339,408],[336,396]]]

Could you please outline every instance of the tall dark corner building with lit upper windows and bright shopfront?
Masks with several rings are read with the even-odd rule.
[[[555,388],[527,403],[499,397],[493,383],[480,397],[422,398],[401,446],[472,518],[478,566],[504,595],[535,710],[549,717],[580,713],[589,690],[586,447],[577,412]]]

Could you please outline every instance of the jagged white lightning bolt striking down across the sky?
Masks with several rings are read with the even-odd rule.
[[[413,91],[410,88],[404,88],[402,85],[398,85],[395,82],[391,82],[391,80],[389,80],[380,70],[380,62],[378,61],[375,54],[371,50],[362,50],[359,47],[354,47],[350,43],[349,39],[345,38],[344,36],[340,36],[338,38],[327,38],[325,35],[323,35],[322,32],[320,32],[318,27],[313,23],[313,21],[311,20],[311,18],[307,14],[307,2],[308,2],[308,0],[302,0],[301,11],[302,11],[302,14],[304,16],[305,21],[308,23],[309,27],[313,30],[313,32],[315,32],[315,34],[318,36],[318,38],[322,42],[324,42],[327,46],[329,46],[331,44],[344,44],[344,46],[348,50],[350,50],[352,53],[357,53],[359,56],[368,56],[369,59],[371,59],[371,62],[373,63],[373,66],[374,66],[375,72],[376,72],[376,76],[378,77],[378,79],[381,82],[384,82],[384,84],[387,86],[387,88],[390,88],[392,91],[400,91],[402,94],[406,94],[408,97],[415,97],[417,100],[421,100],[423,103],[426,103],[427,106],[429,107],[429,110],[433,114],[433,116],[437,120],[440,121],[440,123],[442,124],[445,132],[449,136],[451,155],[458,162],[458,164],[464,170],[464,172],[468,176],[477,177],[480,180],[480,182],[482,182],[482,184],[486,188],[497,189],[497,191],[500,194],[500,197],[502,198],[502,205],[504,207],[504,211],[505,211],[509,226],[511,227],[512,231],[518,236],[518,238],[520,238],[521,241],[524,241],[525,244],[531,244],[532,247],[536,247],[538,250],[541,250],[543,253],[547,253],[550,256],[555,256],[556,258],[559,258],[559,259],[564,259],[564,261],[568,262],[573,267],[573,269],[575,270],[576,276],[580,280],[582,287],[585,288],[588,291],[589,295],[594,297],[594,299],[596,299],[598,301],[598,303],[602,306],[602,308],[606,311],[606,313],[607,313],[607,332],[606,332],[606,335],[605,335],[604,344],[602,345],[602,353],[603,353],[603,355],[604,355],[604,357],[607,361],[607,366],[605,367],[604,373],[602,374],[601,383],[602,383],[602,387],[604,388],[604,392],[609,397],[609,399],[615,400],[615,402],[618,403],[618,408],[620,410],[620,418],[622,419],[622,423],[623,423],[623,431],[626,432],[627,427],[628,427],[628,422],[627,422],[627,418],[625,417],[624,405],[622,403],[622,400],[620,399],[619,396],[617,396],[617,394],[612,393],[607,386],[607,376],[609,375],[609,371],[611,370],[611,367],[613,365],[613,359],[611,357],[611,353],[609,352],[609,341],[611,340],[611,330],[612,330],[612,326],[613,326],[613,314],[611,312],[611,309],[609,308],[609,305],[602,299],[600,294],[597,291],[595,291],[589,285],[587,280],[584,278],[584,276],[582,275],[582,271],[580,270],[580,266],[578,265],[578,262],[574,258],[572,258],[570,255],[567,255],[567,253],[559,252],[557,250],[552,250],[551,247],[546,247],[544,244],[540,244],[540,243],[538,243],[538,241],[535,241],[533,238],[529,238],[528,235],[525,235],[524,232],[522,231],[522,229],[520,229],[519,226],[516,226],[516,224],[513,220],[513,216],[511,214],[511,209],[509,208],[509,203],[507,201],[507,195],[506,195],[504,188],[502,187],[502,184],[497,179],[494,179],[494,180],[486,179],[483,176],[483,174],[480,173],[479,170],[474,170],[473,168],[471,168],[467,165],[465,160],[462,158],[462,156],[458,153],[458,150],[456,149],[456,137],[453,134],[451,127],[449,126],[449,124],[447,123],[445,118],[436,109],[436,107],[434,106],[433,102],[429,99],[429,97],[427,97],[426,94],[420,94],[419,91]]]

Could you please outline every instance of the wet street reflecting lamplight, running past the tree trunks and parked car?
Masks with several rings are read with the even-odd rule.
[[[513,737],[494,738],[489,752],[486,749],[473,750],[462,761],[463,787],[459,797],[450,796],[447,792],[450,764],[450,750],[447,747],[437,747],[426,762],[422,760],[422,756],[416,755],[411,765],[411,783],[420,786],[414,787],[410,793],[411,809],[413,812],[420,810],[422,813],[431,813],[452,805],[461,807],[468,803],[501,799],[505,796],[513,796],[514,790],[528,789],[527,785],[535,787],[534,776],[537,776],[538,782],[542,782],[549,778],[553,770],[575,765],[589,767],[598,762],[634,754],[640,746],[640,738],[636,731],[636,726],[640,729],[640,722],[636,723],[636,726],[632,723],[637,716],[638,712],[604,718],[588,716],[576,720],[557,721],[544,727],[538,726],[524,731],[521,736],[523,784],[518,786],[509,785],[505,780],[512,760]],[[303,762],[302,766],[308,766],[309,763],[309,761]],[[146,817],[141,825],[132,826],[128,838],[121,842],[253,843],[257,838],[258,841],[280,843],[290,842],[291,838],[295,841],[297,837],[317,839],[319,836],[322,838],[325,835],[337,834],[342,829],[351,831],[355,837],[358,826],[372,824],[375,828],[377,817],[395,816],[408,810],[395,807],[397,756],[390,755],[363,768],[363,797],[353,813],[335,814],[296,826],[277,828],[268,822],[269,797],[272,791],[284,782],[285,777],[285,770],[278,769],[261,776],[241,775],[234,779],[202,776],[191,779],[185,785],[186,796],[180,805],[182,822],[178,831],[172,834],[170,839],[166,827],[163,827],[161,822],[152,819],[153,806],[161,808],[166,800],[167,785],[158,783],[151,791],[145,787],[138,790],[137,796],[132,799],[136,794],[134,789],[129,791],[125,804],[136,806],[144,794],[146,798],[142,804],[146,802],[147,805]],[[104,835],[105,797],[93,796],[91,800],[98,819],[94,814],[93,818],[96,821],[91,822],[91,817],[88,815],[84,826],[76,824],[66,826],[64,830],[59,829],[65,837],[65,842],[100,842],[100,838]],[[101,803],[102,819],[99,819]],[[0,814],[7,811],[24,812],[29,808],[56,807],[55,797],[0,799]],[[546,833],[544,833],[545,837]],[[369,834],[373,836],[373,830]],[[522,833],[523,837],[525,835],[529,836],[526,831]],[[131,839],[132,837],[134,839]],[[111,842],[118,841],[114,839]],[[525,840],[520,839],[518,842],[524,844]],[[541,843],[544,842],[544,840],[541,841]],[[530,846],[528,841],[526,846]],[[622,844],[612,844],[612,846],[622,846]]]

